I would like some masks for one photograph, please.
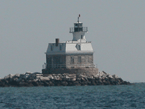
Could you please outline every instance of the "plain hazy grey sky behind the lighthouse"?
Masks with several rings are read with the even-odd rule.
[[[145,0],[0,0],[0,77],[40,72],[48,43],[71,40],[79,14],[99,71],[145,82]]]

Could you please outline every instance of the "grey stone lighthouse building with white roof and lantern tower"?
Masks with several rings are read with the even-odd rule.
[[[88,28],[83,27],[79,17],[69,31],[73,34],[72,40],[60,42],[57,38],[55,43],[48,44],[43,74],[69,72],[68,69],[74,71],[74,69],[95,68],[92,44],[85,37]]]

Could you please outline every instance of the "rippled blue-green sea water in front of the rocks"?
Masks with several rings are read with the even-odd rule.
[[[0,109],[145,109],[145,83],[0,88]]]

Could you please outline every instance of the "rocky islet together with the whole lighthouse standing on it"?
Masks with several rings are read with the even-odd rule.
[[[80,17],[80,15],[79,15]],[[94,50],[91,41],[87,41],[85,33],[88,27],[83,27],[79,21],[74,23],[69,33],[73,39],[49,43],[46,63],[42,73],[26,72],[24,74],[9,74],[0,79],[1,87],[8,86],[84,86],[84,85],[128,85],[116,75],[99,72],[94,64]],[[53,37],[53,36],[52,36]]]

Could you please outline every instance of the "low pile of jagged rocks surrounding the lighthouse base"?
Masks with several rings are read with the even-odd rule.
[[[83,86],[83,85],[129,85],[116,75],[102,71],[94,75],[86,74],[9,74],[0,79],[0,87],[22,86]]]

